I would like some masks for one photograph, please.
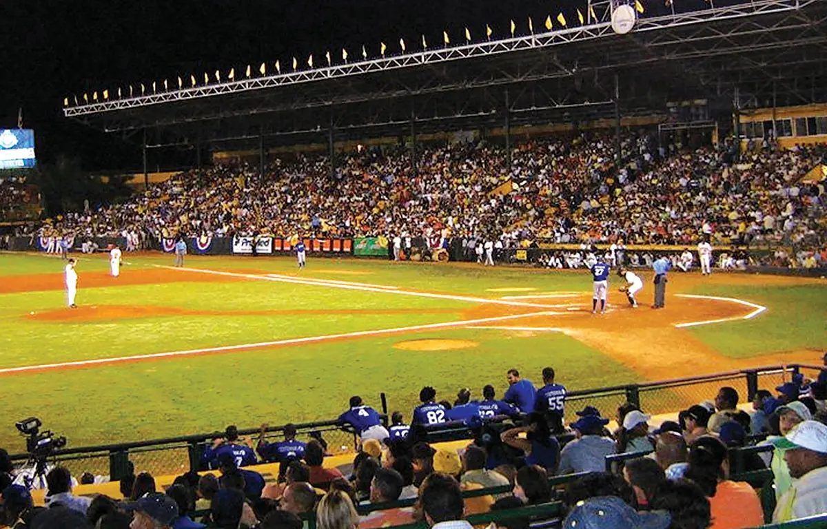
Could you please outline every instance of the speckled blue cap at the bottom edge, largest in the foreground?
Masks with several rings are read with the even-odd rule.
[[[672,516],[666,511],[637,512],[616,496],[599,496],[578,503],[569,512],[566,529],[667,529]]]

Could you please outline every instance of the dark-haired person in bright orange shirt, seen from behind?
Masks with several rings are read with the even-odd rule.
[[[729,480],[727,448],[715,437],[701,437],[690,447],[686,479],[698,484],[709,498],[712,529],[758,527],[763,523],[758,494],[747,483]]]

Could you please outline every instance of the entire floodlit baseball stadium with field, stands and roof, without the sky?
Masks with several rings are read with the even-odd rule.
[[[112,200],[0,131],[0,527],[827,527],[827,2],[432,33],[65,95]]]

